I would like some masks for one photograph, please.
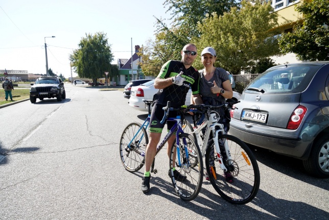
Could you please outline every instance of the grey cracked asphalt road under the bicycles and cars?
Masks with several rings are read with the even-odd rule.
[[[204,180],[183,202],[168,177],[163,149],[148,195],[144,172],[127,172],[119,157],[126,125],[147,115],[122,91],[65,84],[66,99],[20,102],[0,109],[0,219],[329,219],[329,179],[301,161],[253,148],[261,172],[255,199],[223,200]]]

